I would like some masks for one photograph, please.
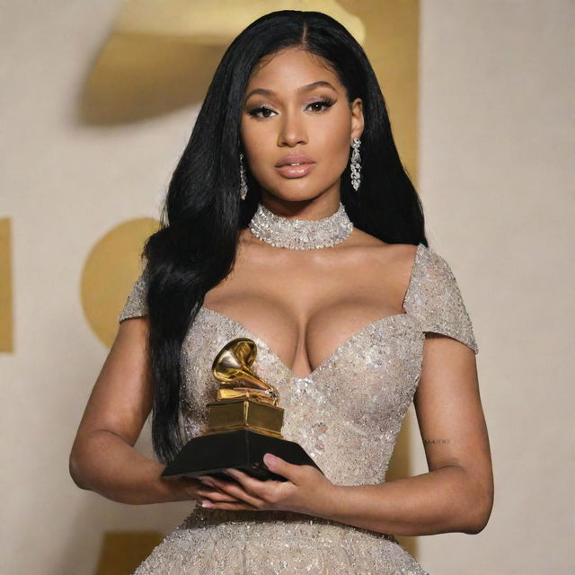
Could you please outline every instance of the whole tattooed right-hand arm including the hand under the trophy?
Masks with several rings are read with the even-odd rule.
[[[473,350],[445,336],[426,338],[414,404],[429,473],[335,485],[311,465],[266,456],[270,470],[288,482],[261,482],[229,469],[234,481],[206,478],[199,494],[215,509],[286,509],[378,533],[479,533],[491,515],[493,477]],[[218,502],[210,488],[242,503]]]

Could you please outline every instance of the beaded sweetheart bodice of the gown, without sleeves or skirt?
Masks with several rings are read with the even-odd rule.
[[[279,391],[284,437],[304,447],[334,481],[377,482],[420,378],[423,334],[416,317],[388,316],[368,325],[302,378],[265,341],[224,315],[200,309],[183,345],[186,438],[206,429],[206,404],[217,392],[212,361],[236,337],[257,345],[252,370]]]

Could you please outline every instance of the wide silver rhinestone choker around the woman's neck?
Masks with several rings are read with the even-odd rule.
[[[343,242],[353,224],[341,202],[332,216],[314,220],[278,216],[260,203],[248,227],[262,242],[275,247],[314,250]]]

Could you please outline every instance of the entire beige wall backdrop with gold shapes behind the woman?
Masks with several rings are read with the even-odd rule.
[[[112,34],[128,4],[2,3],[2,572],[126,573],[189,509],[81,491],[67,456],[226,42],[259,13],[322,6],[365,34],[480,347],[491,521],[406,544],[434,574],[575,572],[572,0],[190,0],[195,42]],[[218,20],[224,4],[245,22]],[[427,472],[412,406],[404,429],[410,474]]]

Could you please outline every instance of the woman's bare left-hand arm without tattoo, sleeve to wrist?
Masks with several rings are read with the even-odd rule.
[[[163,479],[164,465],[134,448],[152,406],[147,331],[147,318],[120,323],[75,437],[70,475],[78,487],[121,503],[199,499],[198,480]]]

